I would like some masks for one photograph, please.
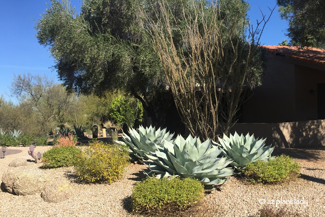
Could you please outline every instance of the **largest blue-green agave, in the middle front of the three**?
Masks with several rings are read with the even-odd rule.
[[[152,162],[149,169],[157,177],[179,175],[197,178],[206,190],[222,185],[234,169],[228,166],[232,161],[218,157],[222,152],[219,147],[211,148],[211,140],[201,143],[200,138],[189,135],[184,139],[178,135],[172,142],[165,140],[164,147],[156,146],[154,153],[146,154]]]

